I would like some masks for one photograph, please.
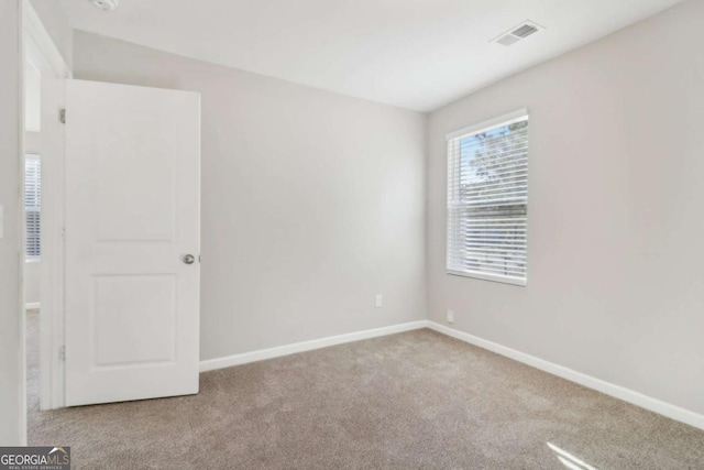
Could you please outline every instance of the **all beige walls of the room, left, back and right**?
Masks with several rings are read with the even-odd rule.
[[[18,3],[0,2],[0,444],[21,439]],[[425,318],[424,116],[87,33],[72,47],[32,3],[77,78],[202,94],[202,359]],[[432,320],[451,308],[461,330],[704,413],[703,17],[690,0],[430,114]],[[443,135],[522,107],[528,286],[448,276]]]

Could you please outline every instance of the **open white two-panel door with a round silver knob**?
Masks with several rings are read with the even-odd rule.
[[[66,405],[198,393],[200,97],[66,80]]]

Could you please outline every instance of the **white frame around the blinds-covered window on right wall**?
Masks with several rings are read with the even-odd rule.
[[[463,129],[459,129],[454,132],[450,132],[448,134],[446,134],[446,140],[448,142],[448,150],[447,150],[447,154],[446,154],[446,162],[447,162],[447,175],[448,175],[448,179],[446,182],[446,190],[447,194],[450,194],[450,188],[451,185],[454,184],[454,182],[452,181],[454,176],[454,173],[457,173],[455,168],[452,166],[453,163],[450,161],[451,157],[451,151],[450,151],[450,145],[452,142],[455,142],[459,139],[462,138],[466,138],[466,136],[471,136],[471,135],[475,135],[475,134],[480,134],[482,132],[487,132],[497,128],[502,128],[505,125],[510,125],[513,123],[516,122],[520,122],[520,121],[525,121],[525,120],[529,120],[529,112],[528,109],[524,108],[524,109],[519,109],[516,110],[514,112],[507,113],[507,114],[503,114],[499,116],[497,118],[494,119],[490,119],[487,121],[483,121],[480,122],[477,124],[474,125],[470,125]],[[510,285],[517,285],[517,286],[526,286],[528,283],[528,227],[527,227],[527,220],[528,220],[528,212],[527,212],[527,208],[528,208],[528,200],[526,198],[526,266],[525,266],[525,276],[524,278],[517,278],[517,277],[510,277],[510,276],[506,276],[506,275],[501,275],[501,274],[492,274],[492,273],[481,273],[481,272],[473,272],[473,271],[458,271],[458,270],[452,270],[449,266],[449,258],[450,258],[450,206],[449,206],[449,200],[446,203],[446,272],[447,274],[450,275],[457,275],[457,276],[463,276],[463,277],[472,277],[472,278],[477,278],[477,280],[484,280],[484,281],[493,281],[493,282],[498,282],[498,283],[504,283],[504,284],[510,284]]]

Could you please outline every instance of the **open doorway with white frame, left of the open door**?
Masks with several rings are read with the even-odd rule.
[[[30,1],[22,2],[23,30],[23,254],[22,340],[28,409],[63,406],[61,331],[63,134],[62,81],[72,74]],[[50,177],[51,175],[51,177]],[[26,416],[23,428],[26,429]]]

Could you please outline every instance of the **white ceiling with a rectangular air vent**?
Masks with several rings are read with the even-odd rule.
[[[62,0],[74,28],[429,111],[681,0]],[[490,43],[531,20],[546,30]]]

